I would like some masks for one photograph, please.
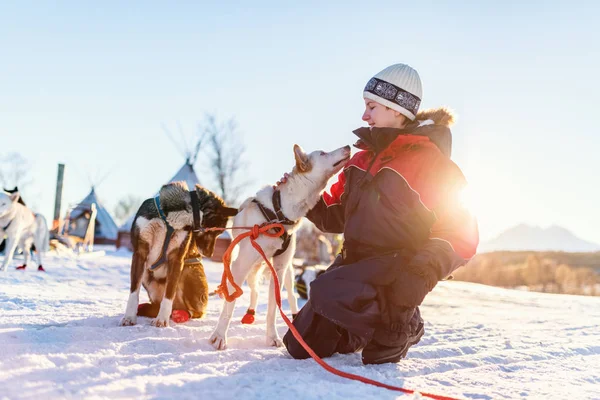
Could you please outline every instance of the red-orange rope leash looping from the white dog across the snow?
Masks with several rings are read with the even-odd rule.
[[[321,357],[319,357],[308,346],[308,344],[306,344],[304,339],[302,339],[302,336],[296,330],[296,327],[294,327],[294,325],[289,320],[287,315],[285,315],[285,313],[281,309],[281,290],[278,290],[278,288],[280,288],[280,286],[279,286],[279,279],[277,278],[277,272],[275,271],[275,268],[273,268],[273,266],[271,265],[271,262],[269,261],[268,257],[266,256],[265,252],[263,251],[263,249],[258,245],[258,243],[256,243],[256,239],[258,239],[258,236],[261,234],[267,235],[269,237],[279,237],[279,236],[283,235],[283,232],[285,231],[285,228],[283,227],[283,225],[278,224],[278,223],[270,223],[270,224],[263,224],[263,225],[254,225],[253,227],[207,228],[206,230],[221,230],[222,231],[225,229],[247,229],[248,232],[244,232],[241,235],[239,235],[238,237],[236,237],[235,240],[233,240],[231,242],[231,244],[227,248],[227,251],[223,255],[223,266],[224,266],[223,278],[221,279],[221,285],[219,285],[219,287],[216,290],[216,292],[221,297],[224,297],[225,300],[227,300],[228,302],[231,302],[231,301],[237,299],[238,297],[240,297],[243,293],[242,289],[238,285],[236,285],[236,283],[233,281],[233,276],[231,274],[231,252],[233,251],[233,248],[235,247],[235,245],[238,244],[242,239],[250,237],[250,243],[256,249],[256,251],[258,251],[258,253],[262,256],[262,258],[265,260],[265,262],[269,266],[269,269],[271,270],[271,275],[273,276],[273,279],[275,280],[275,300],[277,301],[277,307],[279,307],[279,313],[281,314],[281,318],[283,318],[283,320],[285,321],[286,325],[288,326],[288,328],[292,332],[292,335],[294,335],[294,337],[296,338],[298,343],[300,343],[302,345],[304,350],[306,350],[306,352],[308,354],[310,354],[310,356],[321,367],[325,368],[327,371],[331,372],[332,374],[341,376],[343,378],[352,379],[355,381],[367,383],[367,384],[373,385],[373,386],[382,387],[382,388],[385,388],[388,390],[394,390],[397,392],[402,392],[402,393],[407,393],[407,394],[415,393],[414,390],[405,389],[405,388],[402,388],[399,386],[387,385],[385,383],[377,382],[372,379],[362,377],[360,375],[354,375],[354,374],[350,374],[348,372],[340,371],[339,369],[336,369],[336,368],[332,367],[331,365],[327,364],[325,361],[323,361],[321,359]],[[271,229],[275,229],[275,232],[270,232]],[[227,289],[227,280],[229,280],[229,282],[235,289],[235,291],[232,294],[229,294],[229,291]],[[430,393],[423,393],[423,392],[419,392],[419,393],[422,396],[429,397],[429,398],[435,399],[435,400],[458,400],[454,397],[440,396],[437,394],[430,394]]]

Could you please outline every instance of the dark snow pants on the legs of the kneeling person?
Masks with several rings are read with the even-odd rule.
[[[365,364],[399,361],[423,335],[418,306],[430,290],[406,261],[401,252],[338,256],[311,283],[294,327],[320,357],[363,350]],[[292,357],[310,357],[289,330],[283,342]]]

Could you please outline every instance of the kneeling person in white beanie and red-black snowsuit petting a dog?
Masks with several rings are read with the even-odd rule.
[[[362,350],[364,364],[400,361],[424,334],[425,296],[475,254],[477,222],[459,201],[466,181],[450,160],[454,117],[418,113],[421,92],[404,64],[369,80],[369,128],[354,131],[361,151],[307,215],[345,239],[293,322],[320,357]],[[283,342],[292,357],[310,357],[290,331]]]

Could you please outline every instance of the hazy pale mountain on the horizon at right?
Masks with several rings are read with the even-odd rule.
[[[495,239],[482,242],[477,249],[479,253],[496,250],[588,252],[600,251],[600,244],[578,238],[560,226],[540,228],[521,224],[506,230]]]

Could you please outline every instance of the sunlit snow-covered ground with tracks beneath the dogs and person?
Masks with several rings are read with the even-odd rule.
[[[0,273],[0,399],[418,397],[342,379],[312,360],[266,347],[268,285],[254,325],[239,322],[248,293],[238,301],[225,351],[207,342],[219,299],[211,299],[201,320],[155,328],[139,318],[136,326],[120,327],[129,261],[127,252],[80,260],[49,256],[46,274],[14,265]],[[205,264],[214,288],[222,265]],[[425,336],[402,362],[365,367],[359,354],[328,361],[446,396],[600,398],[600,298],[443,282],[422,313]],[[281,335],[285,330],[279,319]]]

